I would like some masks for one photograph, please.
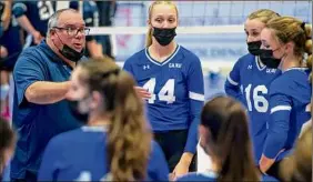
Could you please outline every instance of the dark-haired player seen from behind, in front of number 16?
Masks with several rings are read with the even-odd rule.
[[[253,162],[248,117],[240,102],[216,97],[201,113],[200,145],[212,159],[212,169],[178,181],[259,181]]]

